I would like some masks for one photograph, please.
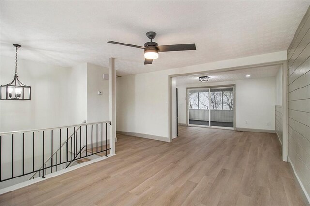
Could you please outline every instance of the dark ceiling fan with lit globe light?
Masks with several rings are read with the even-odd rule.
[[[196,50],[195,44],[175,44],[175,45],[165,45],[158,46],[156,42],[153,42],[153,39],[156,36],[154,31],[149,31],[146,33],[146,36],[151,40],[146,42],[144,46],[137,46],[132,44],[124,44],[120,42],[109,41],[108,43],[120,44],[124,46],[131,46],[135,48],[144,49],[144,64],[152,64],[153,59],[158,58],[158,52],[167,52],[167,51],[186,51],[186,50]]]

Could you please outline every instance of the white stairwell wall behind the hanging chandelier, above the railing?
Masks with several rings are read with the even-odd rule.
[[[15,57],[1,57],[0,84],[11,82]],[[86,70],[18,59],[20,81],[31,86],[30,101],[1,101],[1,132],[78,124],[86,119],[79,93]]]

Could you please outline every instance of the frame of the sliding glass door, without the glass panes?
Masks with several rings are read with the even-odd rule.
[[[219,89],[219,88],[233,88],[233,127],[221,127],[221,126],[211,126],[211,107],[210,107],[210,90]],[[191,89],[207,89],[209,91],[209,125],[198,125],[198,124],[189,124],[189,98],[188,94]],[[205,128],[217,128],[217,129],[226,129],[226,130],[236,130],[236,87],[233,85],[219,85],[219,86],[205,86],[205,87],[188,87],[186,88],[186,122],[187,126],[190,127],[205,127]]]

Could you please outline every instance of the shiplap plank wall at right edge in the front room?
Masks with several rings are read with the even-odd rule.
[[[310,9],[287,51],[288,157],[310,201]]]

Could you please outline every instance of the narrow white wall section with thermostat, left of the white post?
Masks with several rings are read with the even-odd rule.
[[[88,122],[109,120],[109,80],[104,80],[103,74],[109,74],[109,68],[87,63]]]

